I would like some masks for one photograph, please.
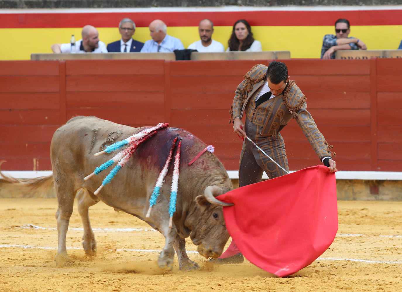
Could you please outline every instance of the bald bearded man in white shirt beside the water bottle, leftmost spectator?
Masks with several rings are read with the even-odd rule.
[[[86,25],[81,31],[82,39],[76,41],[76,53],[107,53],[106,45],[99,40],[99,33],[92,25]],[[51,46],[53,53],[70,53],[70,43],[55,43]]]

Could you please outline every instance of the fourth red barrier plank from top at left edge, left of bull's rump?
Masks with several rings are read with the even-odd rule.
[[[0,109],[0,125],[58,125],[54,109]]]

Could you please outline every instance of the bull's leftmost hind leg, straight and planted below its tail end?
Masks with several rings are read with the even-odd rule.
[[[74,191],[68,187],[59,187],[55,183],[57,192],[57,200],[59,206],[57,207],[56,220],[57,220],[57,255],[55,258],[56,267],[70,266],[73,261],[70,259],[66,248],[66,235],[70,217],[74,207]]]

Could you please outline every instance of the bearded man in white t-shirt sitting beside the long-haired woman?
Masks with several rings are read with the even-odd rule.
[[[209,19],[203,19],[198,25],[198,32],[201,40],[189,45],[188,49],[197,50],[199,52],[223,52],[224,45],[211,39],[213,34],[213,23]]]

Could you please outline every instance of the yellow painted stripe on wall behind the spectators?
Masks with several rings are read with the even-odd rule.
[[[213,39],[228,47],[231,26],[214,27]],[[116,28],[99,28],[104,43],[120,39]],[[264,51],[290,51],[292,58],[320,58],[322,38],[334,33],[333,26],[256,26],[254,38]],[[80,39],[81,28],[0,29],[0,60],[30,60],[31,53],[51,53],[53,43],[67,43],[71,35]],[[197,27],[168,27],[168,34],[178,37],[185,47],[199,40]],[[361,25],[351,27],[351,36],[364,41],[368,49],[397,49],[402,38],[402,25]],[[138,27],[138,41],[150,39],[148,27]]]

